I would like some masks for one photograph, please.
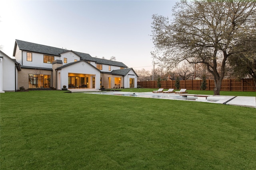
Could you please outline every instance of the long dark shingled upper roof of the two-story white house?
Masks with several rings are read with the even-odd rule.
[[[21,40],[16,39],[16,42],[15,42],[15,45],[14,45],[13,56],[15,56],[17,45],[18,45],[20,50],[42,53],[42,54],[48,54],[48,55],[54,55],[54,56],[61,56],[62,53],[72,51],[72,50],[50,47],[50,46],[47,46],[47,45],[30,43],[30,42],[21,41]],[[72,52],[76,53],[76,55],[78,55],[82,60],[93,61],[93,62],[98,63],[98,64],[106,64],[106,65],[120,66],[120,67],[126,67],[126,68],[128,67],[122,62],[112,61],[112,60],[107,60],[107,59],[99,59],[99,58],[96,58],[96,57],[92,57],[89,54],[81,53],[81,52],[77,52],[77,51],[72,51]]]

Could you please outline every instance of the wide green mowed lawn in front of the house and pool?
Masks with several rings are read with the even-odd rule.
[[[6,92],[0,94],[0,123],[2,170],[256,168],[255,108]]]

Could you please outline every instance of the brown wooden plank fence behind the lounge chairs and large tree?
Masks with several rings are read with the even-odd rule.
[[[200,86],[203,80],[180,80],[180,89],[187,90],[201,90]],[[206,80],[206,90],[214,90],[214,80]],[[142,88],[158,88],[157,81],[143,81],[137,82],[138,87]],[[161,88],[169,89],[175,87],[175,80],[161,81]],[[221,84],[221,91],[242,91],[255,92],[256,88],[252,78],[240,79],[223,79]]]

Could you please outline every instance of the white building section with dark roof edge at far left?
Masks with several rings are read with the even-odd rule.
[[[20,64],[0,51],[0,93],[15,91],[18,88],[18,71]]]

